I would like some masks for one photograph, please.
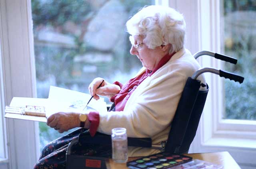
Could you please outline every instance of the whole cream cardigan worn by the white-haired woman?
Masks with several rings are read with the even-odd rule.
[[[100,112],[98,132],[111,134],[112,128],[123,127],[128,137],[152,138],[153,145],[166,141],[180,96],[188,77],[200,69],[191,53],[182,49],[151,77],[147,77],[130,97],[121,112]],[[143,73],[142,68],[140,73]],[[202,83],[205,79],[198,77]],[[126,99],[126,98],[125,98]],[[129,156],[144,156],[160,149],[129,147]]]

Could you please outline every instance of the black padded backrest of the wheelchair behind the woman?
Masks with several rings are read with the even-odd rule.
[[[166,143],[165,151],[186,153],[194,139],[198,123],[209,91],[199,90],[200,81],[188,78]]]

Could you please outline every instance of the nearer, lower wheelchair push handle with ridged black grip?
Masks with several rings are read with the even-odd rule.
[[[219,75],[220,77],[224,77],[226,79],[230,79],[230,80],[234,80],[235,82],[239,82],[239,83],[243,83],[244,81],[244,77],[233,74],[233,73],[229,73],[226,71],[222,71],[222,70],[217,70],[214,68],[203,68],[203,69],[199,69],[198,71],[196,71],[193,75],[192,75],[192,79],[197,79],[197,77],[199,75],[201,75],[202,73],[205,72],[210,72],[210,73],[214,73],[216,75]]]

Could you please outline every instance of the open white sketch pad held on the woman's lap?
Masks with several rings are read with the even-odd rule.
[[[32,110],[20,114],[14,114],[7,111],[4,117],[46,122],[46,117],[49,117],[51,114],[56,112],[82,112],[82,109],[84,109],[84,106],[87,104],[90,97],[90,94],[50,86],[48,98],[14,97],[10,103],[10,106],[12,107],[26,108],[27,106],[27,109],[30,108],[30,110],[33,109],[31,106],[38,106],[40,110],[44,107],[45,114],[42,114],[39,110],[39,112]],[[86,109],[84,109],[84,111],[88,110],[106,112],[107,108],[104,98],[100,98],[99,100],[92,99]]]

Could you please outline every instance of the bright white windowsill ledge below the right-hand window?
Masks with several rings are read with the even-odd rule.
[[[202,143],[203,146],[232,147],[256,150],[256,140],[242,138],[210,138]]]

